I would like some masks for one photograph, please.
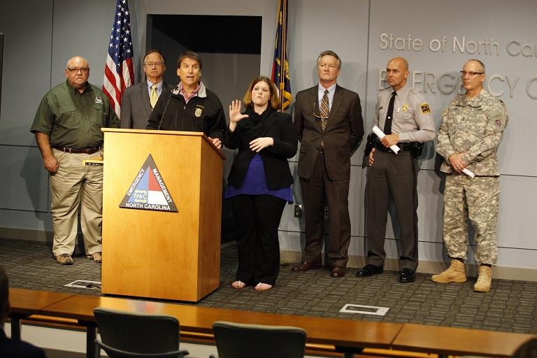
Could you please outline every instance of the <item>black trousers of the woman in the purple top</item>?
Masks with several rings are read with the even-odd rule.
[[[238,226],[236,280],[274,285],[280,272],[278,226],[285,200],[272,195],[231,198]]]

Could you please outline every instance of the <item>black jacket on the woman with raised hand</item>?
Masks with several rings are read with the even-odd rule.
[[[287,113],[280,113],[273,110],[264,119],[261,137],[272,137],[274,145],[259,152],[263,159],[265,169],[266,185],[268,189],[282,189],[293,183],[293,176],[289,170],[287,158],[292,158],[296,154],[298,139],[294,129],[291,116]],[[231,166],[231,171],[227,178],[234,187],[241,187],[248,166],[256,152],[250,149],[250,141],[255,138],[241,134],[241,122],[238,122],[235,131],[226,131],[224,145],[229,149],[238,148],[237,156]]]

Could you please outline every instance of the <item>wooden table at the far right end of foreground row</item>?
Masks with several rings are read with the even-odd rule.
[[[522,343],[537,336],[406,323],[392,349],[447,355],[511,357]]]

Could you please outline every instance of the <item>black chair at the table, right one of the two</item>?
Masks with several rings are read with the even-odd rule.
[[[219,321],[213,333],[220,358],[302,358],[306,349],[306,331],[298,327]]]

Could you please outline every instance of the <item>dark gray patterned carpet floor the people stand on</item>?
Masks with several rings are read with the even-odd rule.
[[[355,269],[349,269],[345,277],[336,279],[327,270],[293,273],[287,266],[280,269],[277,285],[268,292],[256,292],[251,287],[239,291],[230,286],[236,260],[235,243],[222,245],[222,285],[195,304],[348,320],[537,333],[537,282],[493,280],[492,290],[480,294],[472,290],[473,279],[464,284],[438,285],[431,282],[430,275],[418,273],[415,282],[402,284],[396,273],[389,271],[371,278],[356,278]],[[100,281],[100,264],[78,255],[72,266],[60,266],[52,258],[48,243],[0,239],[0,264],[6,266],[12,287],[101,294],[98,289],[65,287],[74,280]],[[347,303],[389,310],[384,316],[340,313]]]

